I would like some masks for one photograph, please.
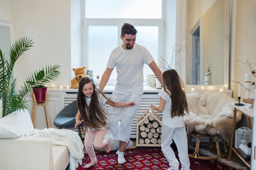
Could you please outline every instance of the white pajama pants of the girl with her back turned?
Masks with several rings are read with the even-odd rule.
[[[178,156],[180,158],[180,163],[182,164],[181,170],[189,170],[189,151],[188,142],[185,127],[170,128],[168,126],[162,126],[162,140],[161,149],[171,166],[171,170],[179,170],[179,161],[175,157],[175,153],[171,148],[173,140],[177,146]]]

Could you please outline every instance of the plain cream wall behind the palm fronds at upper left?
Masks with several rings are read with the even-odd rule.
[[[56,87],[70,85],[70,9],[70,0],[0,1],[0,19],[14,23],[14,40],[30,37],[34,41],[34,47],[14,67],[18,85],[35,70],[51,64],[61,65]]]

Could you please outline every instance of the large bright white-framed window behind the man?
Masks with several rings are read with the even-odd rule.
[[[120,34],[124,23],[135,26],[136,43],[146,47],[157,63],[158,54],[162,53],[159,47],[164,41],[162,6],[162,0],[85,0],[83,47],[88,70],[93,70],[94,76],[102,76],[111,51],[122,44]],[[146,74],[153,74],[147,65],[144,66],[145,79]],[[110,79],[116,77],[114,69]]]

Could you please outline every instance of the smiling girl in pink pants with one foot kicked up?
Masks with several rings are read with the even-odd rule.
[[[91,162],[85,168],[97,163],[97,158],[93,149],[106,147],[106,152],[111,150],[110,140],[103,140],[106,129],[108,128],[108,119],[104,111],[104,104],[107,103],[112,107],[130,107],[134,106],[135,102],[113,102],[108,99],[97,87],[91,78],[82,78],[79,83],[77,94],[78,111],[76,114],[76,124],[81,123],[85,126],[84,145]]]

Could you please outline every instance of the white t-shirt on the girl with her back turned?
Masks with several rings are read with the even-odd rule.
[[[167,90],[167,92],[171,94],[170,91]],[[162,90],[157,95],[165,100],[164,111],[162,112],[163,113],[162,123],[165,126],[168,126],[170,128],[184,127],[185,123],[183,120],[183,116],[174,116],[173,118],[171,117],[172,101],[169,94],[166,93],[164,90]]]

